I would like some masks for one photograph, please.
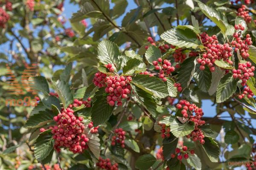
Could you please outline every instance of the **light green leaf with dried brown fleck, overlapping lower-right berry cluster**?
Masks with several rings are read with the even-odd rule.
[[[177,119],[173,119],[170,123],[170,129],[172,134],[178,138],[190,134],[195,127],[191,122],[180,123]]]

